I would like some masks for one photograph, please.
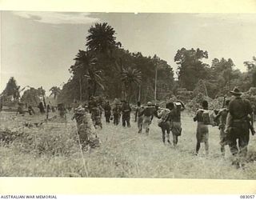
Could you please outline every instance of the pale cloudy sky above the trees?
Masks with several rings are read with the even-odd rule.
[[[231,58],[245,71],[256,56],[256,14],[133,14],[1,11],[0,93],[10,77],[19,86],[62,86],[70,78],[78,50],[95,22],[107,22],[130,52],[166,60],[176,72],[177,50],[207,50],[214,58]]]

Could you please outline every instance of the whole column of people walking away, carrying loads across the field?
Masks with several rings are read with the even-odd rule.
[[[225,146],[230,147],[230,152],[234,156],[232,162],[236,166],[243,166],[246,158],[247,146],[249,143],[250,132],[254,135],[254,112],[250,102],[241,97],[242,93],[238,88],[230,91],[233,98],[226,100],[225,107],[221,110],[208,110],[208,102],[202,102],[202,108],[198,108],[194,122],[197,122],[196,130],[196,150],[198,155],[201,143],[205,144],[206,154],[209,154],[209,125],[218,125],[220,130],[220,149],[225,155]],[[102,128],[101,115],[102,110],[105,112],[106,123],[114,120],[114,125],[118,125],[122,114],[122,126],[130,127],[131,108],[128,102],[122,101],[122,106],[116,104],[111,110],[109,102],[103,108],[94,102],[94,98],[90,98],[88,106],[78,106],[75,109],[75,115],[81,110],[89,110],[91,119],[95,127]],[[172,133],[173,146],[176,147],[178,137],[182,134],[181,111],[185,109],[182,102],[168,102],[166,108],[154,106],[151,102],[147,102],[146,106],[138,106],[135,111],[135,122],[138,123],[138,134],[142,134],[142,129],[146,130],[146,135],[150,132],[150,124],[154,116],[159,118],[158,126],[162,130],[162,142],[170,142],[170,132]],[[112,111],[112,112],[111,112]],[[112,114],[111,114],[112,113]],[[84,114],[84,112],[82,112]],[[88,118],[88,117],[87,117]],[[77,120],[78,122],[78,120]]]

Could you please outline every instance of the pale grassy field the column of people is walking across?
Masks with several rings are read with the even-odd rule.
[[[182,114],[182,136],[178,146],[162,144],[162,134],[154,118],[150,135],[138,134],[137,124],[131,119],[131,128],[103,122],[98,130],[102,142],[98,149],[80,152],[76,124],[48,122],[41,127],[24,127],[23,122],[40,122],[45,116],[15,116],[1,112],[1,129],[26,133],[6,145],[0,144],[0,176],[2,177],[103,177],[103,178],[230,178],[256,179],[255,162],[244,169],[231,165],[220,152],[217,127],[210,127],[210,154],[204,154],[204,145],[194,155],[196,123]],[[102,119],[102,121],[104,121]],[[23,138],[22,138],[23,137]],[[256,138],[250,138],[249,155],[256,154]]]

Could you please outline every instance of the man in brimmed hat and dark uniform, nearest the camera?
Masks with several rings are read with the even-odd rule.
[[[252,134],[254,134],[254,113],[250,102],[241,98],[242,93],[237,87],[230,91],[230,93],[234,96],[234,99],[230,101],[230,112],[226,120],[226,132],[230,140],[230,152],[234,156],[239,155],[240,158],[244,158],[247,153],[250,129]],[[234,164],[240,165],[239,162]]]

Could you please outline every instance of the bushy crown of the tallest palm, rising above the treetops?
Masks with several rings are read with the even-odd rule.
[[[88,30],[89,35],[86,37],[86,46],[94,52],[109,53],[114,46],[121,46],[120,42],[115,42],[115,30],[106,22],[96,23]]]

